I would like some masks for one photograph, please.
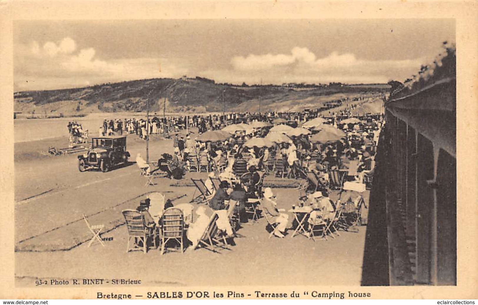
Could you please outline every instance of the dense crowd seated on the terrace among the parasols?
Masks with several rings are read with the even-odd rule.
[[[266,216],[269,225],[273,224],[272,233],[277,237],[284,237],[288,230],[297,228],[298,221],[290,217],[283,209],[277,208],[276,197],[271,188],[262,188],[265,175],[277,177],[303,178],[307,183],[299,187],[299,198],[302,206],[309,206],[307,225],[313,227],[317,218],[324,223],[332,221],[339,201],[329,198],[331,171],[345,173],[344,181],[364,185],[366,176],[373,175],[374,158],[379,141],[380,130],[384,124],[380,114],[364,115],[355,120],[348,120],[344,113],[339,116],[324,117],[323,124],[317,128],[312,126],[310,132],[304,134],[291,133],[285,128],[282,132],[271,131],[273,122],[282,118],[285,123],[295,122],[299,125],[316,118],[317,112],[303,111],[278,114],[274,112],[258,114],[228,114],[227,120],[249,123],[266,122],[260,128],[238,130],[223,139],[203,140],[201,134],[173,135],[174,155],[163,154],[158,160],[157,168],[151,168],[138,155],[137,162],[148,167],[148,172],[167,172],[167,177],[182,179],[187,171],[207,171],[208,178],[204,185],[207,189],[208,200],[206,206],[200,206],[196,213],[199,218],[189,224],[187,237],[196,247],[201,233],[205,230],[208,220],[213,213],[218,215],[217,226],[228,238],[233,237],[233,225],[228,218],[231,205],[237,210],[239,223],[248,222],[260,217],[250,212],[250,203],[255,202],[257,210]],[[221,116],[211,115],[209,118]],[[199,117],[197,122],[204,120]],[[280,123],[275,126],[282,126]],[[305,125],[304,125],[305,126]],[[301,127],[298,127],[301,128]],[[214,128],[210,128],[214,130]],[[291,129],[294,129],[291,127]],[[336,138],[322,139],[315,137],[321,132],[335,132]],[[252,139],[267,139],[270,135],[274,140],[265,141],[263,145],[250,145]],[[319,140],[317,140],[319,139]],[[176,175],[174,169],[180,169]],[[315,179],[311,179],[313,175]],[[220,185],[215,186],[213,179],[219,179]],[[359,204],[360,196],[353,192],[344,192],[341,200],[348,210],[354,210]],[[346,209],[346,210],[347,210]],[[255,209],[254,209],[255,210]],[[255,212],[254,212],[255,213]],[[299,219],[300,221],[300,219]],[[271,234],[272,234],[271,233]]]

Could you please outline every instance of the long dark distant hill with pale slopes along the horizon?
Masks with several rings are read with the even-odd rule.
[[[84,88],[23,91],[14,94],[15,111],[65,113],[256,111],[293,110],[351,95],[388,92],[387,84],[331,85],[294,88],[276,85],[216,84],[206,78],[155,78]]]

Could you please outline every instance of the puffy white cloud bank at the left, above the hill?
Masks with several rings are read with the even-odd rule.
[[[178,78],[189,64],[179,59],[129,58],[104,60],[94,48],[77,49],[66,37],[58,43],[15,45],[15,90],[46,90],[155,77]]]

